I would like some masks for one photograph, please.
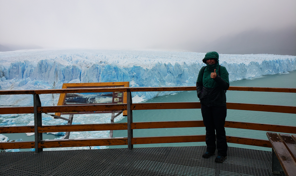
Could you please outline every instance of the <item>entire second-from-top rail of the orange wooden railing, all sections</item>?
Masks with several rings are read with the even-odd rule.
[[[247,111],[265,111],[278,113],[296,114],[295,106],[279,106],[279,105],[259,105],[246,103],[226,103],[227,109],[247,110]],[[133,103],[132,110],[148,110],[148,109],[197,109],[200,108],[199,102],[174,102],[174,103]],[[108,104],[108,105],[67,105],[67,106],[43,106],[38,107],[38,113],[52,112],[89,112],[89,111],[113,111],[126,110],[126,104]],[[33,113],[33,107],[7,107],[0,108],[0,114],[10,113]]]

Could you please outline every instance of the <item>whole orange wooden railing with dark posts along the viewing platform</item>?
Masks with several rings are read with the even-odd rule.
[[[182,103],[132,103],[131,92],[148,91],[190,91],[196,87],[119,87],[119,88],[95,88],[95,89],[49,89],[49,90],[13,90],[0,91],[0,95],[32,94],[34,106],[30,107],[6,107],[0,108],[0,114],[10,113],[34,113],[34,126],[0,127],[0,133],[35,133],[35,141],[2,142],[0,149],[36,148],[36,153],[43,148],[55,147],[81,147],[104,145],[128,145],[152,143],[180,143],[180,142],[204,142],[205,135],[186,136],[158,136],[158,137],[133,137],[133,129],[149,128],[180,128],[180,127],[204,127],[203,121],[160,121],[160,122],[133,122],[133,110],[151,109],[196,109],[200,108],[199,102]],[[264,88],[264,87],[229,87],[228,90],[259,91],[259,92],[292,92],[294,88]],[[39,94],[53,93],[82,93],[82,92],[127,92],[127,104],[112,105],[66,105],[66,106],[42,106]],[[296,114],[295,106],[259,105],[245,103],[227,103],[227,109],[266,111]],[[113,124],[77,124],[77,125],[42,125],[42,113],[56,112],[88,112],[88,111],[123,111],[127,110],[127,123]],[[225,127],[238,129],[252,129],[271,132],[296,133],[295,126],[256,124],[246,122],[226,121]],[[37,130],[36,130],[37,129]],[[66,139],[66,140],[42,140],[44,132],[75,132],[75,131],[103,131],[103,130],[128,130],[127,137],[96,138],[96,139]],[[227,136],[228,143],[271,147],[268,140],[252,139],[245,137]]]

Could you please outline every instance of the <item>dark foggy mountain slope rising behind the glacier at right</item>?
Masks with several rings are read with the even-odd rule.
[[[296,56],[296,28],[276,31],[258,29],[221,37],[210,44],[191,49],[195,52],[216,51],[221,54],[275,54]]]

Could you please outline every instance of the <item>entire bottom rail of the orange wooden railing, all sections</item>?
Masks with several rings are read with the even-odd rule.
[[[228,143],[254,145],[260,147],[271,147],[268,140],[252,139],[245,137],[226,136]],[[157,137],[133,137],[132,144],[155,144],[155,143],[183,143],[183,142],[205,142],[205,135],[184,136],[157,136]],[[34,141],[25,142],[2,142],[0,149],[34,148]],[[43,140],[38,143],[39,148],[56,147],[86,147],[127,145],[127,138],[94,138],[94,139],[68,139],[68,140]]]

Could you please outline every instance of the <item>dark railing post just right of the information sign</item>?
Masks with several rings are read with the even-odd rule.
[[[128,113],[128,150],[133,149],[131,138],[133,138],[133,129],[131,129],[131,123],[133,123],[133,110],[131,109],[132,104],[131,92],[127,92],[127,113]]]

